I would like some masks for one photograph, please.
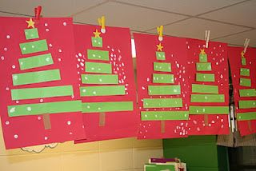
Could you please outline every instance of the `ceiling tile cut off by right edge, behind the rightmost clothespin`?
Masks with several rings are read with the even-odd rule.
[[[214,41],[227,42],[227,43],[230,43],[233,45],[243,46],[246,38],[250,38],[249,46],[256,47],[256,30],[246,31],[241,34],[235,34],[235,35],[228,36],[225,38],[217,38]]]

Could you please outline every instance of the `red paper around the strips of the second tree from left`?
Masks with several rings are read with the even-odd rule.
[[[85,62],[104,62],[89,60],[87,50],[109,51],[112,73],[118,74],[118,85],[126,86],[126,95],[81,97],[83,102],[103,101],[133,101],[134,111],[106,112],[104,126],[99,126],[99,113],[83,113],[83,122],[86,129],[86,140],[78,140],[76,143],[86,141],[100,141],[122,137],[135,137],[137,131],[136,116],[136,88],[134,83],[134,69],[131,55],[130,30],[128,28],[106,27],[106,34],[100,34],[103,46],[93,47],[91,38],[95,30],[100,32],[100,26],[74,25],[74,38],[76,47],[76,60],[78,67],[79,86],[85,86],[81,82],[81,74],[85,72]]]

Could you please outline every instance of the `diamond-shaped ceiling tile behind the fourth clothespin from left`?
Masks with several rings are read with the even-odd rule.
[[[164,34],[183,38],[203,39],[206,30],[210,30],[211,39],[238,33],[248,29],[241,26],[231,26],[198,18],[190,18],[182,22],[164,26]]]

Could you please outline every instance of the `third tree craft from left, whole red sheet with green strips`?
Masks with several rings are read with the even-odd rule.
[[[190,89],[186,39],[134,34],[138,80],[138,138],[186,137]]]

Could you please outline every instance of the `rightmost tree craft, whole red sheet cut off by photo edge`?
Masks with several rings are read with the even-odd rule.
[[[228,47],[235,114],[242,136],[256,133],[255,48]]]

